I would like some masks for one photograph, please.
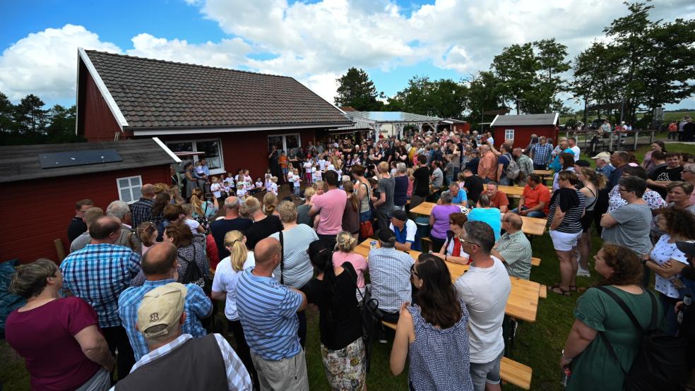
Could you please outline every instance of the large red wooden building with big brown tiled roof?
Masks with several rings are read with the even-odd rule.
[[[271,145],[297,150],[352,125],[294,78],[78,54],[78,134],[88,141],[158,136],[174,152],[205,152],[211,174],[243,167],[261,176]]]

